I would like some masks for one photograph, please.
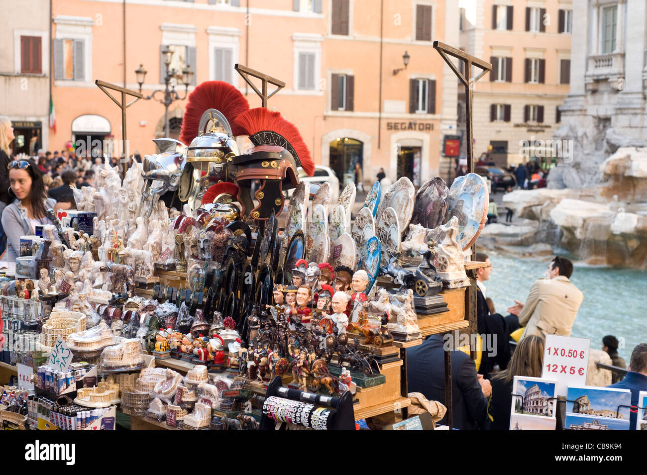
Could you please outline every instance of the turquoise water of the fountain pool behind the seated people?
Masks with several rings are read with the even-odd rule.
[[[492,262],[490,279],[485,282],[487,297],[494,308],[507,315],[513,299],[525,301],[534,280],[543,277],[548,261],[515,259],[488,252]],[[602,337],[624,338],[618,353],[627,364],[631,350],[647,342],[647,272],[635,269],[595,267],[575,264],[571,282],[584,293],[571,336],[591,339],[591,348],[602,349]]]

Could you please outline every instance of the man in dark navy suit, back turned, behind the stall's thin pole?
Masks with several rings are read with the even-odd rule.
[[[448,348],[451,344],[448,342]],[[432,335],[421,345],[407,352],[409,392],[421,392],[430,401],[445,403],[444,399],[444,340],[443,335]],[[487,419],[487,397],[490,381],[476,374],[476,366],[469,355],[450,350],[452,358],[452,403],[454,428],[474,430]],[[446,417],[440,421],[446,424]]]

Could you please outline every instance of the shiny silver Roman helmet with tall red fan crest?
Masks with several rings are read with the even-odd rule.
[[[216,187],[212,195],[218,196],[219,202],[235,200],[236,185],[226,183],[232,182],[228,165],[240,154],[234,136],[245,132],[234,125],[234,120],[248,109],[245,96],[224,81],[206,81],[189,94],[180,140],[190,145],[186,149],[179,198],[188,202],[191,209],[201,204],[205,191],[211,186]]]

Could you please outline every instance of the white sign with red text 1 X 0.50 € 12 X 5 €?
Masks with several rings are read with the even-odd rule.
[[[566,396],[567,386],[586,386],[591,341],[585,338],[546,335],[542,377],[556,379],[556,396]]]

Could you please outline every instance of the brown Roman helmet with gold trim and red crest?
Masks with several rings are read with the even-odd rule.
[[[243,215],[267,220],[274,211],[278,216],[283,211],[283,190],[299,183],[296,168],[302,167],[309,176],[314,174],[308,147],[292,123],[265,107],[243,112],[234,125],[245,131],[255,145],[232,158],[230,164],[230,172],[236,173],[237,199],[243,206]],[[261,185],[252,196],[254,180]]]

